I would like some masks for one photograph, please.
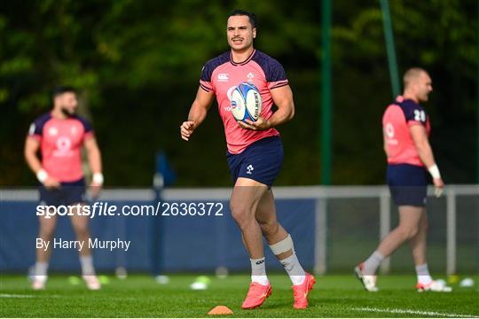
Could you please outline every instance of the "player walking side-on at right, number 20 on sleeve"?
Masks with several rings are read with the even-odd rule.
[[[447,292],[450,287],[429,275],[426,260],[428,215],[426,214],[428,172],[440,196],[444,182],[428,142],[428,115],[420,102],[428,101],[432,82],[418,67],[404,74],[404,93],[389,105],[382,117],[384,151],[388,158],[387,180],[391,196],[398,206],[399,225],[382,239],[377,249],[357,265],[357,278],[369,292],[377,292],[376,270],[381,261],[409,241],[416,267],[419,292]]]

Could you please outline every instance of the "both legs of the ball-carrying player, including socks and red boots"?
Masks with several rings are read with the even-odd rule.
[[[232,193],[230,206],[232,216],[240,226],[252,268],[252,284],[241,307],[259,307],[271,294],[271,285],[264,268],[262,235],[266,237],[273,252],[281,252],[275,254],[293,282],[294,307],[308,307],[307,295],[312,289],[315,279],[313,276],[306,276],[293,248],[285,251],[287,247],[293,247],[293,245],[291,237],[279,225],[276,218],[272,191],[267,190],[266,186],[261,183],[239,178]],[[260,285],[255,285],[256,283]]]

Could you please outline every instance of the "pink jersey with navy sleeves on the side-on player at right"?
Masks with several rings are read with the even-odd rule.
[[[430,125],[424,108],[412,101],[397,97],[382,116],[382,130],[389,164],[411,164],[423,167],[409,127],[422,125],[429,136]]]

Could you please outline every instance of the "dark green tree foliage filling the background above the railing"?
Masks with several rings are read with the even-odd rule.
[[[430,70],[433,146],[456,183],[472,182],[475,162],[476,5],[390,1],[399,70]],[[108,185],[149,185],[160,149],[178,184],[229,184],[215,107],[190,143],[178,126],[201,66],[228,49],[225,21],[236,7],[256,13],[255,46],[283,63],[294,89],[297,115],[280,128],[287,156],[278,183],[318,183],[320,1],[31,0],[0,4],[0,184],[35,182],[22,160],[24,136],[60,83],[81,89]],[[379,2],[334,1],[334,183],[383,183],[381,114],[391,100],[383,39]]]

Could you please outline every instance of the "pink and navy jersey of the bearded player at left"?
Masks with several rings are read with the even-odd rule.
[[[90,123],[80,116],[60,120],[43,114],[30,126],[28,138],[40,141],[43,169],[59,182],[83,177],[82,144],[93,136]]]

